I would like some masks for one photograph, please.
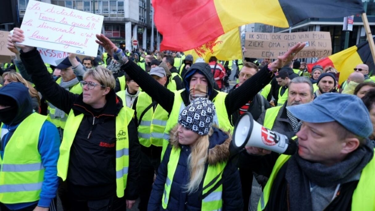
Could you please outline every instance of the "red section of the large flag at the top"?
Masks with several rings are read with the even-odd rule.
[[[187,51],[224,33],[213,0],[153,0],[160,50]]]

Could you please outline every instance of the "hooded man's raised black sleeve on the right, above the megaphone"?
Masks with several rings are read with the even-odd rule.
[[[225,106],[228,115],[231,115],[240,109],[242,105],[245,105],[249,100],[254,98],[263,87],[270,83],[273,75],[267,66],[264,66],[257,74],[246,80],[237,89],[229,92],[225,97]]]

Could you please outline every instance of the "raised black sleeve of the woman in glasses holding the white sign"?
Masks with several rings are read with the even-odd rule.
[[[31,75],[36,90],[42,93],[43,97],[51,102],[52,105],[65,113],[69,113],[73,102],[79,95],[65,90],[53,80],[36,48],[27,53],[23,53],[21,50],[21,60],[27,73]]]

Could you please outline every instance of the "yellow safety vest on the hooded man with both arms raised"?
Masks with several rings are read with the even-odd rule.
[[[174,92],[173,107],[172,107],[171,113],[169,114],[169,119],[166,123],[165,131],[164,131],[164,140],[163,140],[163,149],[162,149],[161,159],[163,159],[164,152],[169,143],[169,131],[177,124],[178,116],[180,115],[182,110],[186,107],[181,98],[181,92],[183,92],[184,90],[185,89],[173,91]],[[218,94],[212,100],[216,109],[216,114],[213,119],[213,124],[216,124],[217,126],[222,128],[223,131],[229,131],[229,133],[231,133],[233,131],[233,126],[231,122],[229,122],[228,112],[226,112],[226,106],[225,106],[225,97],[227,93],[219,92],[219,91],[217,92]]]

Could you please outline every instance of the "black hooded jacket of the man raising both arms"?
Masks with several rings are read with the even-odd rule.
[[[160,85],[155,79],[148,75],[147,72],[132,62],[127,62],[126,64],[122,65],[121,69],[126,71],[126,73],[138,83],[142,90],[150,95],[152,99],[157,101],[157,103],[159,103],[163,109],[165,109],[168,113],[171,113],[173,108],[174,92],[171,92]],[[210,92],[209,99],[212,100],[214,97],[216,97],[218,92],[212,89],[214,86],[214,81],[211,68],[207,63],[195,63],[189,68],[185,74],[185,78],[183,78],[184,88],[189,86],[189,81],[191,78],[189,76],[189,72],[196,70],[202,72],[207,78],[208,89]],[[245,83],[243,83],[239,88],[226,95],[225,107],[228,116],[230,117],[233,112],[240,109],[242,105],[257,95],[257,93],[263,89],[264,86],[270,83],[272,78],[273,74],[269,72],[267,66],[265,66],[253,77],[246,80]],[[181,98],[183,99],[185,105],[189,105],[190,95],[186,89],[181,93]]]

